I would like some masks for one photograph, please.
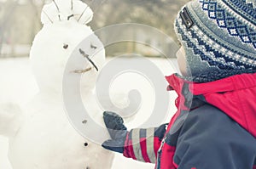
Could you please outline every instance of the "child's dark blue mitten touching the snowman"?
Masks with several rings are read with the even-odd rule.
[[[105,141],[102,144],[102,147],[115,152],[123,153],[125,138],[128,131],[124,125],[122,117],[116,113],[105,111],[103,113],[103,119],[112,139]]]

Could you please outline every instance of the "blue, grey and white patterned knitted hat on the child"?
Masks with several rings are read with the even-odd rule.
[[[177,15],[175,31],[194,82],[256,72],[255,0],[196,0]]]

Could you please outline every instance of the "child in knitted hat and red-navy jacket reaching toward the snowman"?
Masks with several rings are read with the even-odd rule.
[[[183,76],[166,77],[178,94],[177,113],[167,125],[128,132],[119,115],[106,111],[112,139],[102,146],[156,169],[255,169],[255,5],[187,3],[175,23]]]

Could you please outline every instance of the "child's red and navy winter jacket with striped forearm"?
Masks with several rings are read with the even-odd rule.
[[[177,92],[177,113],[167,129],[131,130],[126,157],[161,169],[256,168],[256,74],[207,83],[176,75],[166,80]]]

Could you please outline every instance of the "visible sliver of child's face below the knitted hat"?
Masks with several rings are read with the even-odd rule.
[[[183,76],[187,75],[187,62],[186,62],[186,54],[185,54],[185,50],[183,48],[183,46],[181,46],[177,53],[176,53],[176,57],[177,57],[177,64],[179,67],[179,70],[181,71]]]

